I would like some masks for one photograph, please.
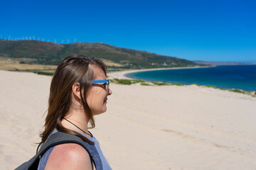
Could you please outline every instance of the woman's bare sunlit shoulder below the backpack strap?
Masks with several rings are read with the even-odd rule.
[[[90,155],[80,145],[74,143],[67,143],[57,145],[50,153],[47,169],[92,169],[90,162]]]

